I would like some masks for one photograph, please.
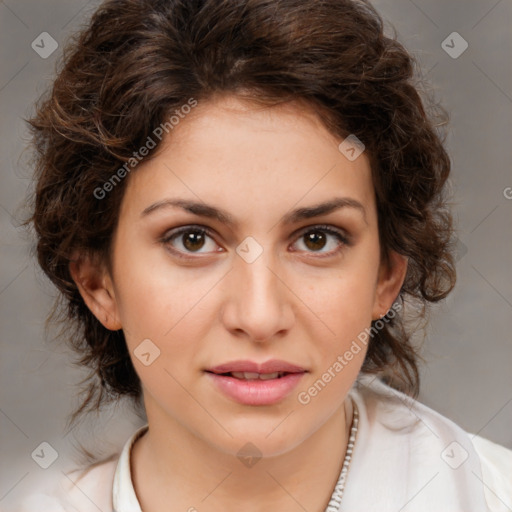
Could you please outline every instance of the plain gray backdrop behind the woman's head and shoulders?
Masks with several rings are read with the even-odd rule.
[[[140,424],[121,404],[64,436],[81,374],[64,347],[44,341],[54,290],[35,266],[30,240],[17,229],[30,183],[21,117],[30,114],[51,79],[66,37],[97,4],[0,2],[3,510],[35,482],[72,466],[78,440],[108,454]],[[458,284],[427,331],[420,399],[465,430],[512,448],[512,1],[378,0],[374,5],[418,57],[436,98],[451,113],[447,145],[460,241]],[[441,46],[454,31],[469,44],[456,59]],[[31,47],[42,32],[60,45],[47,59]],[[97,438],[104,442],[98,445]],[[31,458],[43,441],[59,454],[47,470]]]

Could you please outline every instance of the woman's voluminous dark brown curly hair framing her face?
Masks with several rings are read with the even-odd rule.
[[[382,256],[408,258],[397,300],[416,302],[412,312],[424,318],[425,306],[451,291],[450,159],[440,131],[448,115],[421,99],[418,69],[365,0],[110,0],[96,10],[27,120],[36,170],[28,223],[39,264],[61,292],[50,318],[64,322],[76,364],[90,370],[72,423],[122,396],[141,408],[123,331],[93,316],[69,264],[76,251],[109,261],[127,180],[104,199],[94,191],[191,97],[298,100],[332,133],[355,134],[371,162]],[[418,347],[405,320],[402,310],[372,335],[362,371],[416,396]]]

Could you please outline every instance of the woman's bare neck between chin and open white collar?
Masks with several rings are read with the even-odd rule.
[[[346,404],[346,405],[345,405]],[[172,418],[151,416],[132,450],[132,481],[144,512],[324,512],[348,443],[352,406],[345,400],[311,436],[285,453],[243,464]]]

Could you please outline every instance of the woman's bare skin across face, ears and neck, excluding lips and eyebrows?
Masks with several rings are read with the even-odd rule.
[[[199,104],[129,176],[111,272],[85,257],[72,264],[91,311],[105,327],[124,330],[143,384],[149,432],[134,446],[132,479],[144,512],[170,504],[201,512],[327,506],[352,419],[347,393],[366,350],[307,405],[297,395],[387,312],[407,267],[396,253],[390,265],[380,261],[369,160],[363,153],[349,161],[341,140],[298,103],[262,109],[224,96]],[[358,201],[364,213],[346,206],[281,222],[335,197]],[[171,198],[222,208],[238,225],[177,207],[142,214]],[[318,224],[342,230],[348,244]],[[185,246],[183,236],[162,241],[197,225],[212,231],[202,245]],[[326,238],[308,244],[303,231]],[[249,236],[263,250],[252,263],[236,253]],[[160,350],[149,366],[134,356],[145,339]],[[203,371],[273,358],[308,370],[275,405],[238,404]],[[248,442],[262,454],[250,468],[237,457]]]

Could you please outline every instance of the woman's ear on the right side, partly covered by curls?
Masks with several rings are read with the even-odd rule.
[[[372,320],[382,318],[398,297],[407,274],[407,257],[390,251],[389,261],[381,262],[375,290]]]

